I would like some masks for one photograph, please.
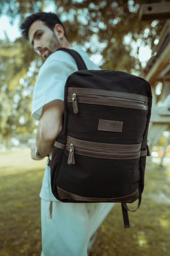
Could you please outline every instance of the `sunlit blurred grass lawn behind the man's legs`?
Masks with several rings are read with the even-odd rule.
[[[0,256],[40,256],[45,161],[31,160],[29,149],[0,153]],[[91,256],[170,255],[169,163],[166,170],[147,163],[142,204],[129,213],[130,229],[116,204],[99,227]]]

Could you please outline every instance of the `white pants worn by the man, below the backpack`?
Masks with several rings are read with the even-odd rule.
[[[41,256],[87,256],[91,236],[113,203],[62,203],[41,199]]]

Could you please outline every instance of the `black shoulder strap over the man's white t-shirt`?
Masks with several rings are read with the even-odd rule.
[[[83,61],[81,55],[79,55],[79,53],[73,49],[69,49],[69,48],[59,48],[57,49],[57,51],[64,51],[64,52],[68,52],[76,61],[77,64],[77,68],[78,70],[87,70],[88,68],[85,65],[85,62]]]

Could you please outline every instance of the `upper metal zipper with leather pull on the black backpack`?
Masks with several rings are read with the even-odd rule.
[[[77,97],[78,98],[83,98],[85,100],[85,98],[89,99],[104,99],[104,100],[113,100],[113,101],[117,101],[117,102],[127,102],[127,103],[134,103],[137,105],[143,105],[144,106],[144,110],[147,110],[148,108],[148,104],[147,102],[144,102],[142,100],[136,100],[136,99],[125,99],[125,98],[119,98],[119,97],[113,97],[113,96],[99,96],[99,95],[87,95],[87,94],[76,94],[73,93],[72,94],[72,103],[73,103],[73,111],[75,114],[79,113],[79,108],[78,108],[78,104],[77,104]]]

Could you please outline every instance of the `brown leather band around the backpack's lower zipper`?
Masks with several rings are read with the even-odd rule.
[[[88,157],[106,159],[134,159],[140,157],[141,144],[119,145],[107,143],[94,143],[78,140],[67,136],[66,150],[70,150],[70,144],[74,145],[74,153]]]

